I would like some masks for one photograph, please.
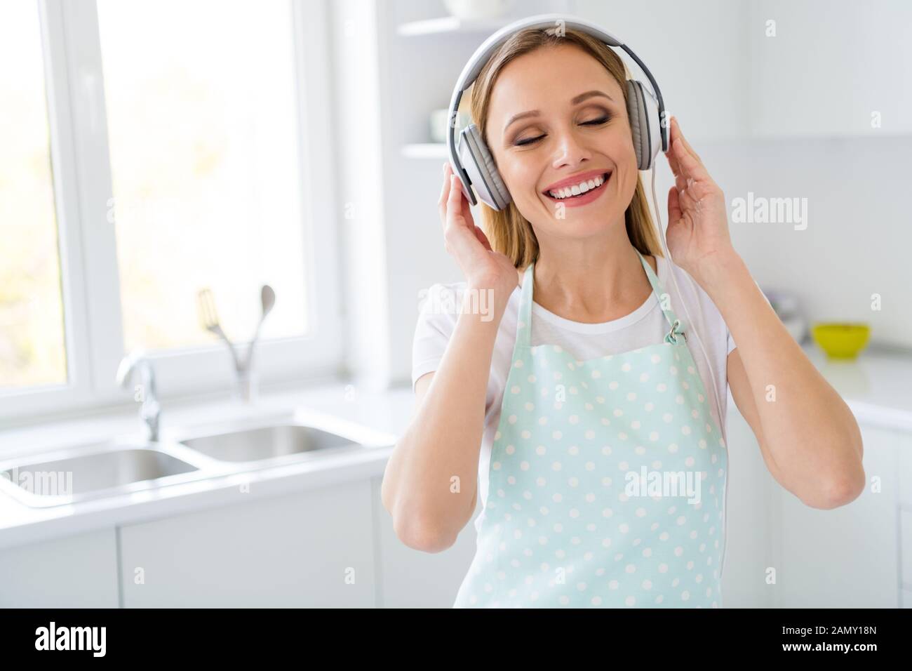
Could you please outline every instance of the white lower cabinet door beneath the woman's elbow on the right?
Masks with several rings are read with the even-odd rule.
[[[779,607],[896,608],[897,581],[895,433],[861,427],[865,491],[852,503],[820,510],[780,488],[782,566]],[[880,491],[872,479],[879,478]]]

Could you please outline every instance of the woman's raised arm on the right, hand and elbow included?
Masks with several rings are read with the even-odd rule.
[[[729,354],[735,403],[772,476],[813,508],[836,508],[865,488],[855,416],[814,368],[731,246],[725,195],[672,119],[666,154],[668,250],[709,294],[738,343]]]

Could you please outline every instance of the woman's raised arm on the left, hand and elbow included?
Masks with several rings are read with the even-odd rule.
[[[427,552],[449,548],[472,518],[494,341],[519,284],[513,261],[493,251],[474,225],[446,164],[438,208],[444,245],[466,277],[466,291],[440,367],[416,383],[417,411],[380,490],[399,540]]]

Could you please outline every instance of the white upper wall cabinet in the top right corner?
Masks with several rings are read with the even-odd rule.
[[[767,36],[768,22],[774,37]],[[764,0],[748,4],[747,24],[757,136],[912,132],[906,0]],[[875,113],[879,128],[872,127]]]

